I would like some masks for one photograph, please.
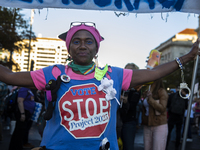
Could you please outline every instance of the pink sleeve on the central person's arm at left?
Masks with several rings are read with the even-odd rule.
[[[42,69],[31,71],[31,78],[38,90],[45,90],[46,80]]]

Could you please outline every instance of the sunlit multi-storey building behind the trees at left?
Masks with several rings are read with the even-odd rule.
[[[28,43],[28,40],[24,42]],[[36,38],[31,41],[29,66],[33,61],[33,70],[38,70],[54,64],[65,64],[68,55],[65,42],[56,38]],[[27,71],[28,49],[20,53],[14,52],[13,60],[19,64],[20,71]],[[30,70],[30,67],[29,67]]]

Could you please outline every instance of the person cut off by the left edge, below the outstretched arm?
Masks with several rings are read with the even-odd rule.
[[[8,94],[8,86],[7,84],[0,81],[0,141],[3,140],[3,124],[2,124],[2,114],[4,112],[4,97]]]

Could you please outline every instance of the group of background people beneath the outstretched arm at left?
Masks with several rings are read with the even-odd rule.
[[[10,130],[9,150],[34,148],[35,146],[29,143],[29,131],[35,121],[36,103],[41,103],[44,107],[43,92],[26,87],[10,86],[3,82],[0,82],[0,87],[0,141],[3,141],[2,131]],[[40,111],[40,115],[42,112],[44,110]],[[36,123],[41,123],[39,116],[36,119]],[[38,127],[40,126],[38,124]],[[40,129],[38,132],[40,133]]]

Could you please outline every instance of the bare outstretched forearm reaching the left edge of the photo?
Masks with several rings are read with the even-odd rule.
[[[0,81],[8,85],[35,87],[30,72],[12,72],[2,65],[0,65]]]

